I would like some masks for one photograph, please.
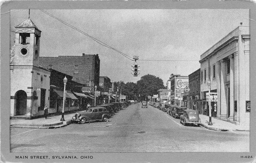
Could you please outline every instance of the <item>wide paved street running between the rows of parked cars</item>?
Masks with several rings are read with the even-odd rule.
[[[248,131],[183,126],[154,107],[130,105],[106,122],[11,128],[11,152],[249,152]]]

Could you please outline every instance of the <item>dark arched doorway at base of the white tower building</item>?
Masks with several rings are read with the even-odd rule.
[[[16,92],[16,114],[25,115],[27,113],[27,93],[23,90]]]

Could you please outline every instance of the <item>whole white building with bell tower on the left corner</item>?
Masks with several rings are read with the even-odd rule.
[[[49,106],[51,72],[39,66],[41,31],[27,19],[15,26],[10,54],[11,116],[43,115]]]

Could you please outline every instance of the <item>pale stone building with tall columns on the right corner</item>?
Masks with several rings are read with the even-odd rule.
[[[201,55],[201,97],[206,98],[207,81],[218,95],[217,117],[249,127],[249,26],[238,26]],[[207,107],[207,103],[203,107]],[[211,108],[213,109],[213,108]]]

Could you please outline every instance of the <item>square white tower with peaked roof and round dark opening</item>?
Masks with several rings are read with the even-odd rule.
[[[15,50],[13,65],[38,67],[41,31],[31,19],[15,26]]]

